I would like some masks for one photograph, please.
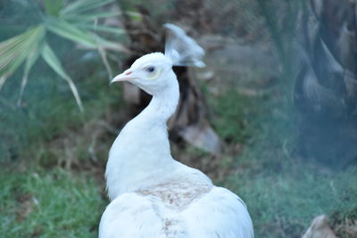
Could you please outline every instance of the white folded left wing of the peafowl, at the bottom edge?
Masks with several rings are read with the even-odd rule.
[[[162,220],[152,202],[137,193],[124,193],[105,209],[99,238],[163,238]]]

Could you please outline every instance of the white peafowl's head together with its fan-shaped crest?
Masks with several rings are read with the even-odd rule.
[[[167,37],[165,54],[148,53],[137,59],[128,70],[112,79],[112,82],[128,81],[148,94],[160,94],[168,86],[177,86],[172,66],[204,67],[204,51],[183,29],[165,24]]]

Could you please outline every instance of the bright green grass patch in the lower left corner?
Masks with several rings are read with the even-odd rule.
[[[2,169],[1,237],[97,237],[105,203],[92,176],[61,168]]]

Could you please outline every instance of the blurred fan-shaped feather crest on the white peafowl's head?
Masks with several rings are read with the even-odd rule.
[[[204,50],[193,38],[173,24],[163,26],[167,29],[165,56],[172,61],[173,66],[205,66],[202,61]]]

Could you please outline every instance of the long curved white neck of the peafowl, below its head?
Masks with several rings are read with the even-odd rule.
[[[166,122],[179,103],[179,83],[154,94],[149,105],[122,129],[112,145],[106,168],[112,199],[160,183],[177,166],[170,155]]]

